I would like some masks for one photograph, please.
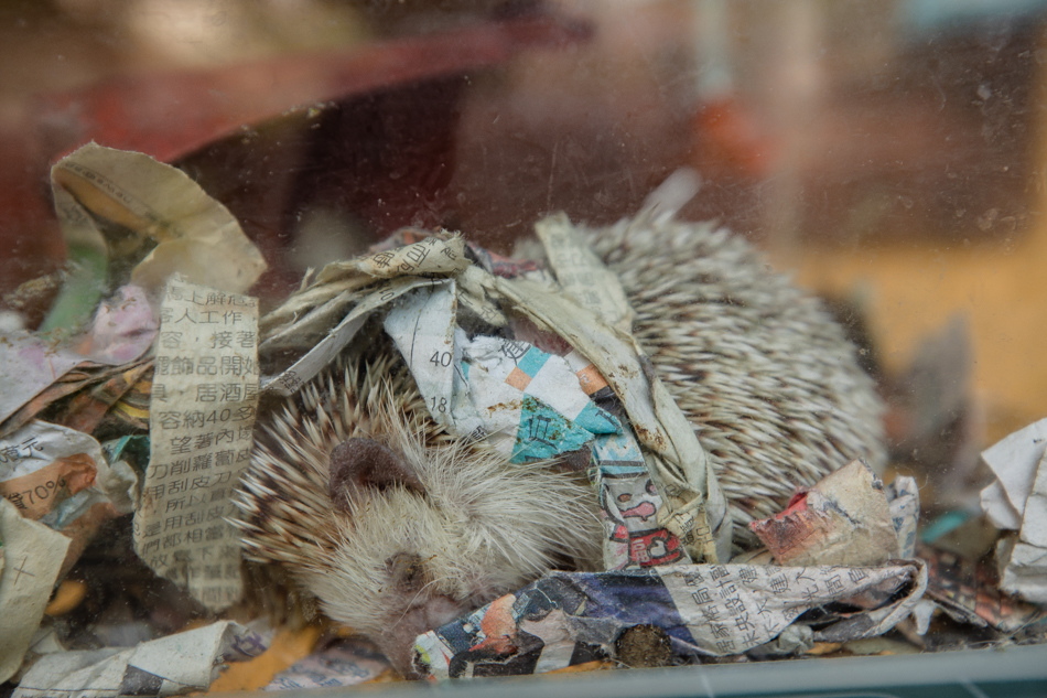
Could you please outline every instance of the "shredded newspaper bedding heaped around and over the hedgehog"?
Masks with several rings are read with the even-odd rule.
[[[668,638],[678,663],[797,653],[899,623],[925,632],[937,606],[1001,632],[1043,621],[1035,605],[1005,595],[992,615],[942,581],[937,558],[928,566],[914,551],[915,481],[885,486],[860,464],[754,524],[769,551],[728,562],[731,522],[715,473],[645,368],[617,280],[564,216],[536,226],[549,270],[455,235],[407,229],[370,255],[306,275],[298,292],[259,316],[245,294],[265,268],[258,250],[176,170],[91,144],[60,162],[54,182],[82,276],[94,273],[114,296],[88,308],[71,289],[90,279],[74,279],[48,316],[54,340],[13,331],[0,346],[12,386],[0,401],[0,624],[8,629],[0,678],[21,672],[18,696],[199,690],[225,662],[263,651],[265,633],[218,622],[158,640],[155,649],[65,653],[42,640],[54,633],[41,623],[53,584],[93,533],[132,511],[136,551],[158,576],[186,588],[212,618],[242,608],[246,581],[224,519],[249,461],[259,400],[294,395],[373,316],[434,420],[490,439],[514,461],[587,449],[603,507],[606,571],[551,573],[419,637],[415,649],[434,678],[620,658],[620,638],[637,627]],[[126,277],[107,271],[119,265],[106,255],[120,248],[107,246],[99,219],[137,236],[141,260]],[[278,355],[294,358],[272,365]],[[138,408],[138,422],[120,423],[147,420],[148,439],[89,436],[110,408],[130,409],[121,401],[142,391],[148,409]],[[69,396],[83,399],[71,404]],[[62,423],[40,418],[62,415]],[[1044,423],[984,454],[1000,477],[983,492],[985,511],[1015,531],[1001,544],[1002,588],[1034,603],[1047,601],[1047,570],[1036,561],[1047,547]],[[626,500],[627,507],[617,504]],[[800,540],[798,530],[811,535]],[[20,554],[26,550],[47,555]],[[35,664],[21,666],[23,655]],[[149,658],[161,655],[176,670],[161,672]],[[271,688],[348,685],[381,672],[365,655],[337,656]],[[335,665],[349,677],[324,674]],[[66,674],[68,684],[52,680]]]

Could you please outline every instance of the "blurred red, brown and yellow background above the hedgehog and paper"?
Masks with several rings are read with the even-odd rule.
[[[1045,416],[1045,12],[7,0],[0,293],[61,268],[48,168],[89,140],[225,203],[269,260],[268,301],[399,226],[508,251],[547,213],[609,223],[692,168],[681,215],[832,302],[891,400],[896,462],[948,486],[935,473]]]

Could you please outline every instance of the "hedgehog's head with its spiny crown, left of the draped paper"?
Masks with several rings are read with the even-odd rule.
[[[391,347],[341,357],[260,427],[236,504],[245,557],[284,565],[404,676],[421,633],[601,559],[584,476],[449,434]]]

